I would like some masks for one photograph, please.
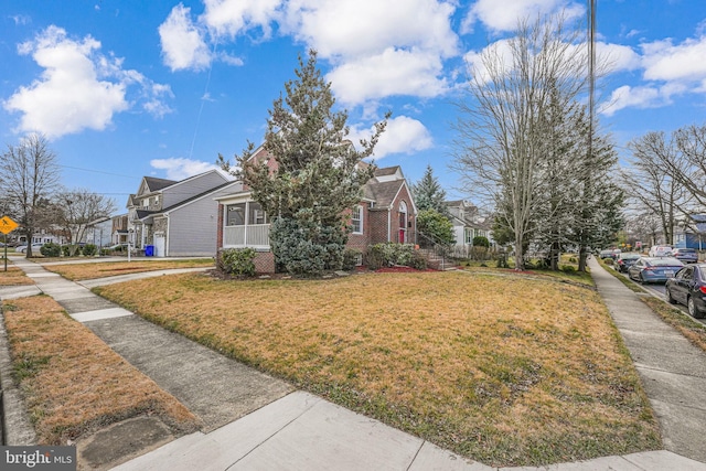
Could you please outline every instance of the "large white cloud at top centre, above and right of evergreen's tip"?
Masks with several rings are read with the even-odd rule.
[[[442,61],[459,53],[453,11],[436,0],[292,0],[282,30],[331,62],[327,79],[339,100],[370,107],[387,96],[448,90]]]

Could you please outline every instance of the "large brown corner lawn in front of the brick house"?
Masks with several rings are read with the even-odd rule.
[[[485,464],[661,448],[638,374],[591,287],[513,274],[253,281],[199,274],[97,291]]]

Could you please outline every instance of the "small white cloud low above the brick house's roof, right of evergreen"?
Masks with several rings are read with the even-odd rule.
[[[361,129],[352,127],[350,138],[357,146],[361,139],[370,139],[374,128]],[[430,149],[434,140],[429,130],[418,120],[407,116],[398,116],[387,121],[385,132],[375,146],[374,159],[382,159],[393,153],[414,153]]]

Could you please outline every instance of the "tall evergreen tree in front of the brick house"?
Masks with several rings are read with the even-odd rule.
[[[347,239],[346,210],[361,201],[373,165],[359,165],[373,154],[387,118],[375,125],[356,150],[349,140],[347,113],[333,111],[331,84],[317,67],[311,50],[299,57],[297,78],[285,84],[286,96],[274,101],[264,149],[275,165],[254,157],[255,146],[237,157],[234,172],[271,217],[270,247],[280,268],[297,275],[338,269]],[[229,170],[223,157],[218,163]]]

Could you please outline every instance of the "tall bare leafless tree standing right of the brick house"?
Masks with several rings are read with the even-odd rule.
[[[518,269],[544,203],[549,109],[568,110],[586,86],[580,38],[578,29],[565,29],[561,17],[532,25],[522,21],[516,35],[503,43],[509,53],[499,43],[484,50],[469,82],[472,103],[458,104],[451,167],[469,190],[490,200],[499,223],[514,235]]]

